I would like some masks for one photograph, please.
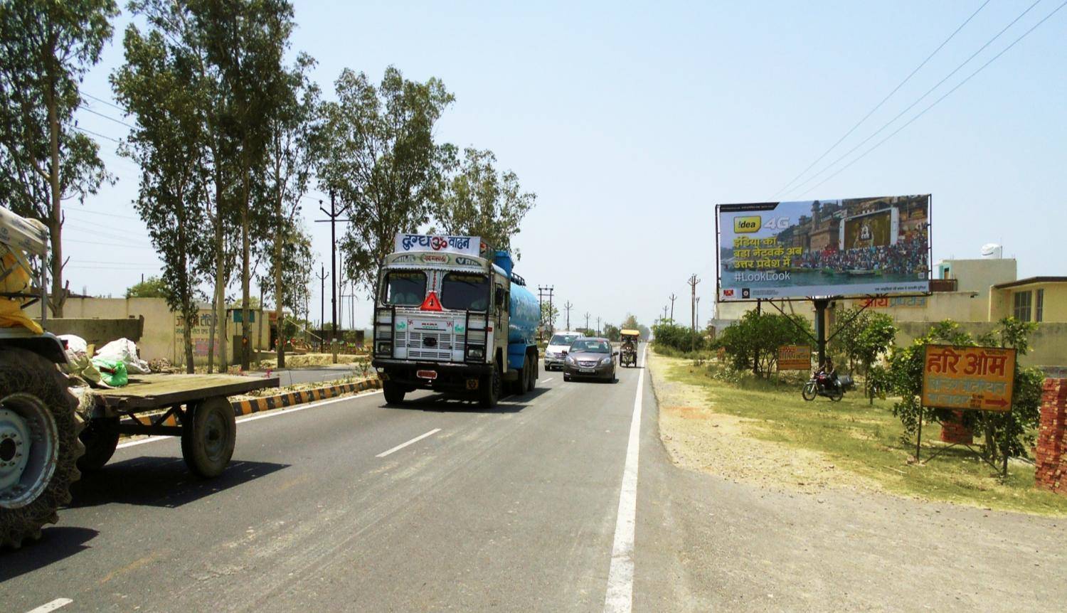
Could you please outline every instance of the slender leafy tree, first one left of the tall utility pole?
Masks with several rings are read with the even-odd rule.
[[[297,57],[297,62],[285,74],[287,86],[269,122],[266,193],[273,201],[273,214],[270,216],[270,231],[267,236],[273,236],[271,268],[274,276],[274,312],[280,322],[283,306],[289,306],[296,312],[294,305],[287,304],[286,294],[301,288],[306,290],[310,274],[310,263],[296,261],[302,259],[302,256],[310,257],[310,241],[296,223],[296,216],[300,211],[300,198],[307,193],[310,179],[312,135],[319,112],[319,87],[308,77],[308,71],[314,66],[315,60],[309,55],[301,53]],[[286,245],[290,248],[287,249]],[[303,251],[299,248],[301,246],[304,247]],[[297,267],[302,267],[299,269],[302,273],[299,285],[285,283],[286,272],[297,272]],[[286,288],[291,290],[286,291]],[[302,302],[301,299],[301,304]],[[278,368],[285,368],[285,327],[278,326]]]

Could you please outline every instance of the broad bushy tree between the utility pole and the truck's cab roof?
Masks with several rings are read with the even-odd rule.
[[[372,288],[395,236],[429,221],[444,150],[433,126],[453,96],[439,79],[409,81],[393,66],[377,87],[348,68],[334,86],[337,100],[323,104],[316,139],[316,174],[353,220],[340,245],[345,276]]]

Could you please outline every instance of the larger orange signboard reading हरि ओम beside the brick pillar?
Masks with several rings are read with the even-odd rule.
[[[1014,349],[926,345],[923,406],[1006,413],[1014,383]]]

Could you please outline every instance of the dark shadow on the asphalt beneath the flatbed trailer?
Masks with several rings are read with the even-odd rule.
[[[288,466],[235,461],[221,475],[202,479],[190,472],[180,457],[134,457],[82,474],[81,481],[70,488],[74,495],[70,506],[118,503],[176,509]]]

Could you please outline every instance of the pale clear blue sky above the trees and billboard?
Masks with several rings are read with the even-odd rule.
[[[882,134],[1061,1],[1040,1]],[[319,61],[315,77],[328,97],[346,66],[375,81],[389,64],[411,79],[444,80],[456,103],[439,124],[440,140],[492,149],[538,194],[514,241],[523,254],[516,271],[535,287],[555,286],[557,304],[573,302],[572,325],[587,311],[651,323],[671,292],[688,295],[692,273],[703,279],[701,319],[712,314],[716,203],[931,193],[935,261],[978,257],[982,244],[1002,242],[1021,276],[1067,274],[1067,9],[849,168],[808,191],[851,158],[775,197],[981,3],[298,1],[292,52]],[[989,2],[815,171],[1031,3]],[[84,92],[112,99],[107,76],[122,62],[127,20],[116,23]],[[126,130],[85,112],[79,118],[112,138]],[[157,274],[159,262],[129,206],[137,168],[115,157],[114,143],[101,143],[120,182],[84,207],[68,206],[68,275],[76,291],[121,295],[142,273]],[[329,269],[329,228],[309,222],[318,215],[306,204]],[[128,217],[98,214],[111,212]],[[328,319],[329,308],[328,297]],[[368,304],[357,303],[357,325],[369,317]],[[687,297],[675,317],[688,321]]]

